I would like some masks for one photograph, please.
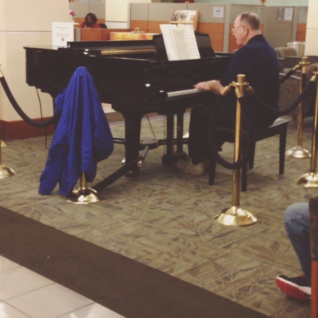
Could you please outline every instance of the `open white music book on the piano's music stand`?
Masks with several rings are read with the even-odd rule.
[[[200,59],[198,44],[191,24],[160,24],[169,61]]]

